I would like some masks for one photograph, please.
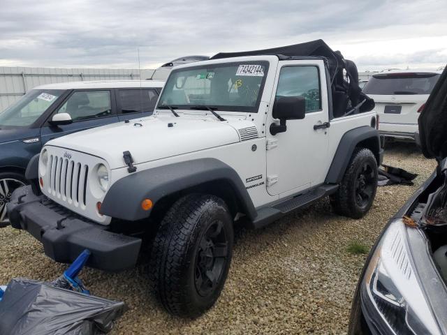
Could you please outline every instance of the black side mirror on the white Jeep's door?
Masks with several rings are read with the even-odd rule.
[[[274,119],[279,119],[279,124],[270,124],[270,133],[284,133],[287,130],[286,120],[300,120],[306,116],[306,99],[302,96],[277,96],[274,99]]]

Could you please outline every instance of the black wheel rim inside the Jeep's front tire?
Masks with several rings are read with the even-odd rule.
[[[214,221],[203,234],[198,246],[194,283],[202,297],[207,297],[217,288],[228,259],[228,241],[223,223]]]

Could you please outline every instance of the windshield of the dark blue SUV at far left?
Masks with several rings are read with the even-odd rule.
[[[32,89],[0,113],[0,128],[31,126],[62,93],[61,89]]]

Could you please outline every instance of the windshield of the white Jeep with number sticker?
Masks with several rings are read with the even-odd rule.
[[[158,108],[258,111],[268,61],[212,64],[173,70]]]

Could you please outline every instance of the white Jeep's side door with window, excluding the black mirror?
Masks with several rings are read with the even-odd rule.
[[[282,198],[323,183],[330,164],[325,128],[329,121],[328,89],[323,61],[280,61],[271,106],[276,96],[301,96],[306,103],[305,119],[287,120],[284,133],[271,135],[267,128],[268,143],[276,144],[267,150],[267,190]],[[266,125],[272,122],[278,120],[269,113]]]

